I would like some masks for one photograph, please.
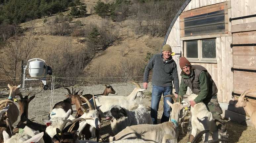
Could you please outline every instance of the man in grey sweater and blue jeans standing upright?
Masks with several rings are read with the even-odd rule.
[[[166,44],[163,46],[162,54],[155,54],[150,60],[144,71],[143,87],[148,88],[149,71],[153,69],[152,76],[152,99],[150,115],[153,124],[157,124],[157,111],[161,96],[172,94],[172,81],[175,86],[176,94],[179,93],[179,78],[177,65],[172,59],[172,48]],[[164,98],[164,111],[161,123],[169,121],[171,107],[167,100],[172,102],[171,97]]]

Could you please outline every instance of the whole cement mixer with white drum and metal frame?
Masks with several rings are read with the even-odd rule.
[[[27,61],[27,65],[23,65],[23,81],[22,81],[22,88],[25,88],[25,81],[32,81],[32,80],[41,80],[44,84],[43,89],[47,90],[49,87],[46,84],[46,76],[52,75],[52,68],[47,66],[45,60],[34,58]],[[26,77],[26,69],[28,68],[28,74],[30,77],[40,77],[39,79],[27,78]]]

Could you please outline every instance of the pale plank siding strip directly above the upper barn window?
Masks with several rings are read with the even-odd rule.
[[[205,6],[209,6],[209,5],[226,2],[226,1],[230,1],[230,0],[191,0],[183,12],[201,8],[201,7],[205,7]]]

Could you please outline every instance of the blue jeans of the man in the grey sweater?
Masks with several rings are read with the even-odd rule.
[[[157,124],[157,111],[162,94],[163,96],[172,94],[172,86],[161,87],[153,85],[150,111],[150,116],[152,118],[153,124]],[[171,97],[164,98],[164,111],[161,118],[161,123],[169,121],[170,118],[171,107],[167,104],[167,100],[169,100],[172,103]]]

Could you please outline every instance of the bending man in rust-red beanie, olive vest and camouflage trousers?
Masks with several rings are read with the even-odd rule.
[[[178,96],[183,97],[183,95],[187,92],[187,88],[189,87],[194,94],[197,94],[197,97],[193,101],[190,101],[190,105],[194,107],[195,104],[203,102],[212,113],[220,135],[224,138],[228,138],[227,129],[221,117],[222,109],[217,99],[218,89],[212,80],[211,75],[203,66],[191,65],[189,60],[187,60],[185,57],[181,57],[179,62],[182,69],[182,79]],[[188,142],[191,142],[193,138],[191,131],[192,124],[190,118],[188,127],[190,136]]]

